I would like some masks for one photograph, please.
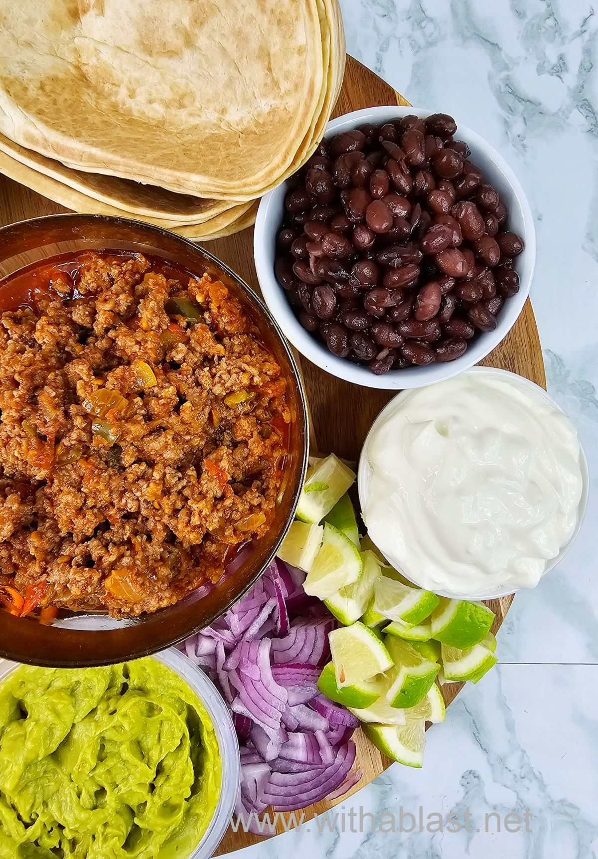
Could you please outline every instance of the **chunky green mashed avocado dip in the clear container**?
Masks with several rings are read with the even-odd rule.
[[[155,659],[0,684],[2,859],[186,859],[220,782],[210,716]]]

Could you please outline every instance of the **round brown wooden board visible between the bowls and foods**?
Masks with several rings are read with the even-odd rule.
[[[357,60],[347,57],[345,81],[333,116],[340,116],[362,107],[387,104],[408,105],[409,102],[381,78],[357,63]],[[29,188],[0,175],[0,224],[40,215],[52,215],[61,211],[67,210],[51,200],[40,197]],[[222,259],[256,292],[259,292],[253,265],[253,228],[217,241],[205,242],[204,247]],[[303,357],[299,360],[311,411],[312,439],[317,440],[317,448],[323,452],[333,451],[346,459],[357,460],[369,426],[382,406],[394,396],[394,392],[375,391],[372,388],[350,385],[326,374]],[[489,367],[508,369],[546,387],[540,338],[529,301],[509,335],[482,363]],[[357,408],[356,403],[359,404]],[[334,416],[333,420],[331,416]],[[493,632],[496,632],[502,624],[512,599],[512,597],[504,597],[488,603],[496,613]],[[442,695],[447,704],[455,698],[461,685],[442,686]],[[355,740],[357,759],[354,768],[361,769],[363,776],[357,785],[342,797],[342,801],[380,775],[392,763],[371,745],[360,730],[357,730]],[[429,760],[427,765],[433,766],[433,761]],[[336,802],[316,802],[303,809],[305,819],[311,819],[315,814],[325,812],[334,805]],[[282,824],[278,825],[278,831],[284,831]],[[219,856],[230,850],[239,850],[260,840],[261,838],[250,832],[232,832],[229,829],[216,855]]]

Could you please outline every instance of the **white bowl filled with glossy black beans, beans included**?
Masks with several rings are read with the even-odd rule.
[[[334,119],[259,204],[265,303],[302,355],[366,387],[448,379],[522,312],[534,219],[496,149],[446,113],[371,107]]]

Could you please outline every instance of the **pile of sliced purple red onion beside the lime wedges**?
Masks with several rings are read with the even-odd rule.
[[[233,712],[241,746],[235,810],[246,819],[271,803],[291,811],[340,796],[360,777],[350,774],[358,721],[317,687],[335,620],[305,594],[304,578],[276,559],[235,606],[180,646]]]

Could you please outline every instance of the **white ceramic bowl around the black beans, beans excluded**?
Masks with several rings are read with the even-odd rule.
[[[346,113],[328,124],[325,137],[334,137],[339,131],[347,131],[366,122],[382,124],[392,119],[400,119],[410,113],[426,117],[433,110],[416,107],[369,107],[354,113]],[[274,276],[276,256],[276,237],[284,216],[284,196],[286,184],[275,188],[261,199],[253,235],[253,253],[258,272],[259,286],[278,325],[290,342],[302,355],[318,367],[339,379],[354,382],[365,387],[400,389],[421,387],[432,382],[449,379],[462,370],[473,367],[481,361],[510,332],[529,294],[535,264],[534,218],[522,186],[507,162],[496,149],[466,125],[457,123],[457,140],[463,140],[472,150],[472,161],[483,172],[485,181],[497,189],[500,198],[509,211],[508,226],[525,242],[525,249],[515,260],[514,268],[519,275],[520,289],[516,295],[504,302],[498,314],[498,325],[492,332],[482,332],[467,347],[467,351],[456,361],[436,362],[427,367],[408,367],[391,370],[384,375],[374,375],[368,367],[359,366],[344,358],[338,358],[326,349],[312,334],[306,331],[287,301],[284,289]]]

